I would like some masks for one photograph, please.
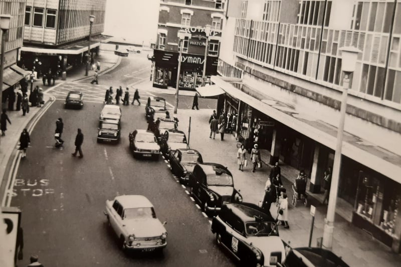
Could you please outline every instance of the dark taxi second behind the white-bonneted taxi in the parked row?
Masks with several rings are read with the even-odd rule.
[[[188,148],[178,148],[170,153],[168,159],[171,172],[181,183],[187,183],[196,163],[203,163],[202,155],[197,150]]]

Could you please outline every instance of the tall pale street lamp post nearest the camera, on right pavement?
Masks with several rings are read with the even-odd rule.
[[[333,229],[334,229],[334,216],[335,207],[337,202],[337,191],[338,191],[338,181],[340,178],[340,167],[341,167],[341,148],[342,148],[342,138],[344,135],[344,121],[345,121],[345,110],[347,106],[347,90],[349,88],[349,75],[355,71],[356,57],[360,52],[354,47],[343,47],[340,49],[342,51],[342,63],[341,68],[344,72],[343,79],[343,90],[342,99],[340,107],[340,121],[337,130],[337,143],[334,152],[334,163],[333,172],[331,175],[331,185],[330,185],[330,195],[327,207],[327,215],[324,219],[324,231],[323,231],[323,242],[322,245],[326,249],[332,248],[333,241]]]

